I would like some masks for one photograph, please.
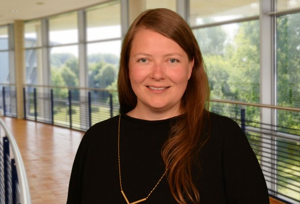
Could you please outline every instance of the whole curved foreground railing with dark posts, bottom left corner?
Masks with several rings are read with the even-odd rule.
[[[27,175],[20,151],[14,136],[0,118],[0,136],[2,130],[4,130],[4,137],[0,145],[0,203],[31,204]],[[13,159],[10,158],[10,150]]]

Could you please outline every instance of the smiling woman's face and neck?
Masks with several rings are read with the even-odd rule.
[[[191,76],[193,61],[175,41],[152,30],[138,31],[132,42],[129,77],[140,114],[180,113],[181,97]]]

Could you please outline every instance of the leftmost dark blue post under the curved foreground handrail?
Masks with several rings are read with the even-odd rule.
[[[3,171],[4,171],[4,197],[5,197],[5,204],[8,204],[8,198],[9,198],[9,177],[10,172],[8,171],[10,164],[10,152],[9,152],[9,140],[7,137],[3,137]]]

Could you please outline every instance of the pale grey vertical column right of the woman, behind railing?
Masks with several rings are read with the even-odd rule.
[[[274,59],[273,59],[273,17],[267,15],[272,12],[272,0],[260,0],[260,103],[274,105]],[[261,108],[261,123],[274,124],[274,110]],[[262,128],[270,129],[269,125]],[[276,158],[274,158],[275,141],[273,137],[262,135],[262,170],[266,175],[269,189],[276,190],[275,177]],[[268,144],[266,144],[268,143]],[[270,176],[270,177],[268,177]]]

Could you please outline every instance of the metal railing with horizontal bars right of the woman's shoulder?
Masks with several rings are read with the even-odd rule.
[[[300,203],[300,109],[212,100],[211,111],[240,124],[263,170],[269,194],[285,203]],[[284,111],[290,121],[260,122],[261,108]],[[277,110],[277,108],[279,110]]]

